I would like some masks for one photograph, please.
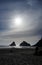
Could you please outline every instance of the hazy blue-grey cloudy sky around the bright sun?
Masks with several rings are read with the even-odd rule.
[[[42,0],[0,0],[0,45],[42,37]]]

